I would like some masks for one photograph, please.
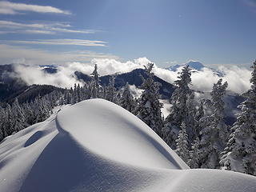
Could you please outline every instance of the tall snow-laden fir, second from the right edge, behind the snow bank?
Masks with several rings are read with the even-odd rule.
[[[212,97],[213,114],[200,119],[200,166],[202,168],[218,168],[219,156],[226,146],[227,126],[224,123],[223,97],[226,94],[227,82],[222,79],[214,83],[210,95]]]

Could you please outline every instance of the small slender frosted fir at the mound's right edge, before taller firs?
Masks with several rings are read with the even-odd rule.
[[[189,152],[189,146],[188,146],[188,135],[186,133],[186,124],[183,122],[181,126],[181,130],[178,133],[178,139],[176,139],[176,154],[184,162],[189,162],[190,160],[190,152]]]

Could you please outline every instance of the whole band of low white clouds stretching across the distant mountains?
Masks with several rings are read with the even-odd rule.
[[[38,66],[17,66],[16,71],[28,84],[50,84],[70,87],[74,83],[78,83],[78,80],[74,77],[74,71],[90,74],[94,70],[94,64],[98,64],[98,73],[103,76],[106,74],[126,73],[134,69],[143,68],[148,62],[150,60],[147,58],[138,58],[127,62],[120,62],[114,58],[94,58],[88,63],[69,62],[58,66],[56,74],[46,74]],[[181,68],[174,72],[155,66],[154,74],[166,82],[174,83],[180,70]],[[228,90],[241,94],[250,89],[250,70],[238,66],[219,66],[218,70],[222,71],[223,76],[221,78],[223,81],[229,83]],[[220,77],[214,70],[204,68],[202,71],[194,71],[191,78],[192,89],[209,92]]]

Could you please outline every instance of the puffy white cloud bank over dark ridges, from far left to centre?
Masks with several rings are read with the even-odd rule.
[[[98,63],[98,73],[103,76],[106,74],[114,74],[115,72],[128,72],[132,69],[143,67],[143,65],[147,63],[146,61],[148,61],[146,58],[138,58],[133,62],[118,62],[116,59],[100,59],[96,57],[98,55],[94,56],[95,58],[92,59],[91,62],[66,62],[58,66],[58,73],[56,74],[46,74],[39,66],[24,66],[18,64],[15,66],[15,71],[28,85],[50,84],[65,88],[74,86],[74,83],[78,83],[78,80],[74,77],[74,71],[80,71],[90,75],[94,70],[95,63]],[[26,61],[21,60],[21,62]],[[131,90],[137,97],[141,94],[141,90],[135,89],[134,86],[131,86]]]

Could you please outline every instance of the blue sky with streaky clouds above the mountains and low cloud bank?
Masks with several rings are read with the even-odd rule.
[[[255,0],[0,1],[0,64],[190,59],[250,65]]]

